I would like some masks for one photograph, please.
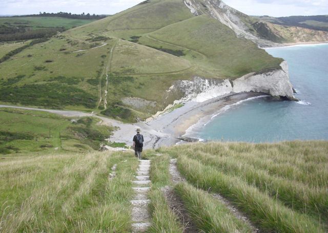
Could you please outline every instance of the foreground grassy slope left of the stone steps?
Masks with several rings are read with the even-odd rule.
[[[109,180],[113,164],[116,176]],[[129,232],[137,165],[127,153],[2,160],[1,231]]]

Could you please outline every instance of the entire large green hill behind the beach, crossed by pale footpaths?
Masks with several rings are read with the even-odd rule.
[[[279,69],[281,62],[178,0],[145,1],[16,47],[3,45],[2,103],[96,111],[124,121],[149,117],[182,97],[167,96],[175,80],[234,79]],[[152,104],[140,110],[127,97]]]

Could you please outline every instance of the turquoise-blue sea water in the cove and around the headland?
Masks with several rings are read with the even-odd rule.
[[[221,110],[189,136],[224,141],[328,140],[328,44],[267,49],[288,61],[299,102],[251,98]]]

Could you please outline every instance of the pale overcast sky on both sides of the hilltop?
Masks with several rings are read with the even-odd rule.
[[[71,12],[115,14],[143,0],[0,0],[0,15]],[[182,0],[181,0],[182,1]],[[249,15],[328,15],[328,0],[225,0]]]

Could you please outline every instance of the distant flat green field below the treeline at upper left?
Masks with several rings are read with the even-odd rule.
[[[93,22],[95,19],[74,19],[61,17],[0,17],[0,25],[27,26],[33,30],[49,27],[78,27]],[[6,23],[6,24],[5,24]]]

